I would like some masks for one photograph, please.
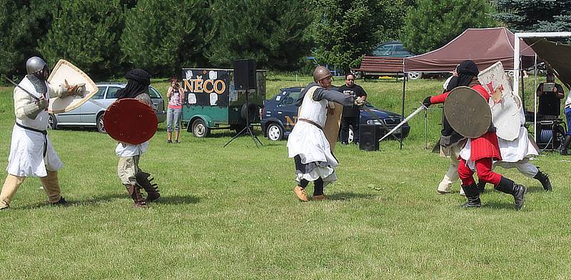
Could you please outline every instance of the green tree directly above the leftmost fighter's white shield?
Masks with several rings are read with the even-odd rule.
[[[119,0],[62,1],[38,49],[51,66],[66,59],[92,78],[108,76],[121,69],[117,41],[122,30]]]

